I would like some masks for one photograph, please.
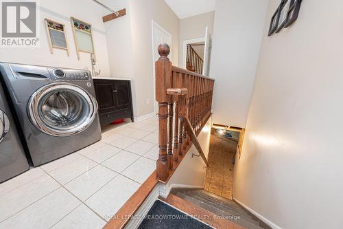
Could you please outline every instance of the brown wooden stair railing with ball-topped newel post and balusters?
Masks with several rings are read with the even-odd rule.
[[[211,116],[214,80],[175,67],[167,57],[167,44],[158,46],[156,101],[158,102],[158,160],[156,172],[166,182],[191,144],[208,162],[196,136]]]

